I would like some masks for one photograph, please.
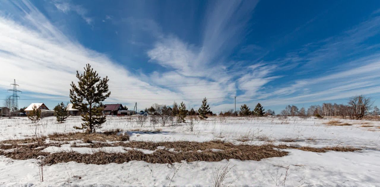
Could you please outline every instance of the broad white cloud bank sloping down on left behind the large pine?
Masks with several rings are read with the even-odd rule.
[[[22,91],[68,97],[71,81],[77,81],[76,71],[82,72],[83,67],[90,63],[100,76],[108,75],[110,79],[111,97],[106,102],[141,101],[136,96],[117,98],[126,93],[117,88],[120,86],[135,88],[128,90],[128,94],[148,93],[150,98],[154,98],[154,101],[149,103],[142,102],[139,107],[147,107],[155,101],[170,101],[167,97],[157,94],[159,92],[175,94],[167,89],[150,88],[149,83],[139,80],[106,55],[68,39],[34,6],[26,2],[22,7],[22,12],[13,13],[23,14],[23,19],[28,20],[27,25],[9,17],[0,17],[1,88],[8,89],[9,79],[16,79],[17,83],[22,85]]]

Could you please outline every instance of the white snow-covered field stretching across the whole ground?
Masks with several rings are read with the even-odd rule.
[[[226,186],[380,186],[380,122],[338,119],[351,126],[324,124],[329,120],[331,119],[212,117],[199,121],[193,132],[188,131],[185,125],[175,124],[156,127],[160,129],[159,132],[149,133],[146,131],[153,130],[149,121],[141,127],[136,123],[136,117],[108,117],[100,131],[123,129],[130,135],[130,141],[222,140],[250,145],[272,143],[317,148],[353,146],[362,150],[310,152],[283,149],[289,152],[287,156],[260,161],[230,159],[173,165],[144,161],[106,165],[58,163],[44,167],[44,182],[40,182],[35,159],[13,160],[0,156],[0,186],[213,186],[213,175],[226,166],[231,167],[228,172],[230,177],[225,181]],[[54,117],[44,118],[40,121],[38,134],[76,132],[78,130],[73,126],[79,126],[81,122],[79,117],[70,117],[63,124],[55,123]],[[3,118],[0,119],[0,140],[27,138],[34,134],[34,129],[27,118]],[[68,149],[81,153],[91,153],[98,149],[126,152],[120,147],[71,148],[70,144],[47,147],[43,151]],[[152,152],[140,151],[145,154]]]

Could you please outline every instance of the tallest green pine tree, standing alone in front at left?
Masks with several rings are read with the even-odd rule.
[[[70,102],[73,103],[74,108],[83,112],[81,116],[84,123],[81,124],[82,127],[75,126],[74,128],[93,133],[106,122],[101,102],[111,94],[107,84],[109,79],[107,76],[101,79],[90,64],[86,65],[83,74],[80,75],[76,71],[76,77],[79,79],[78,86],[71,82]]]

